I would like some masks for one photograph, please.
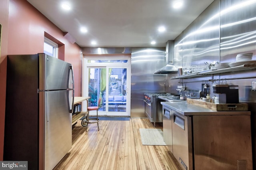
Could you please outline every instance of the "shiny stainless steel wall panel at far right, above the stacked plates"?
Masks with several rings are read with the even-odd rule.
[[[238,53],[256,53],[256,2],[222,0],[220,4],[221,62],[235,62]]]

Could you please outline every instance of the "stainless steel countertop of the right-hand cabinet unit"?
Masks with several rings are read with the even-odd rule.
[[[161,102],[166,106],[184,116],[194,115],[251,115],[250,111],[213,111],[203,107],[195,106],[187,102]]]

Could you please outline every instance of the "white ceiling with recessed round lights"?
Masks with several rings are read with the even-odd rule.
[[[27,0],[80,47],[165,47],[214,0]],[[65,11],[61,4],[70,4]],[[80,32],[84,26],[88,32]],[[159,26],[166,31],[159,33]],[[91,41],[97,42],[92,45]],[[156,44],[151,45],[151,41]]]

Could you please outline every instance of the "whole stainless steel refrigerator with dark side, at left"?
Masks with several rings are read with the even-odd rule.
[[[44,53],[8,55],[4,160],[53,169],[72,146],[73,99],[70,63]]]

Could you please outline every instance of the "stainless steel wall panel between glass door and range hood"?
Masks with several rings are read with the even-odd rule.
[[[144,93],[164,93],[165,74],[153,74],[164,67],[165,47],[132,48],[131,117],[146,117]]]

